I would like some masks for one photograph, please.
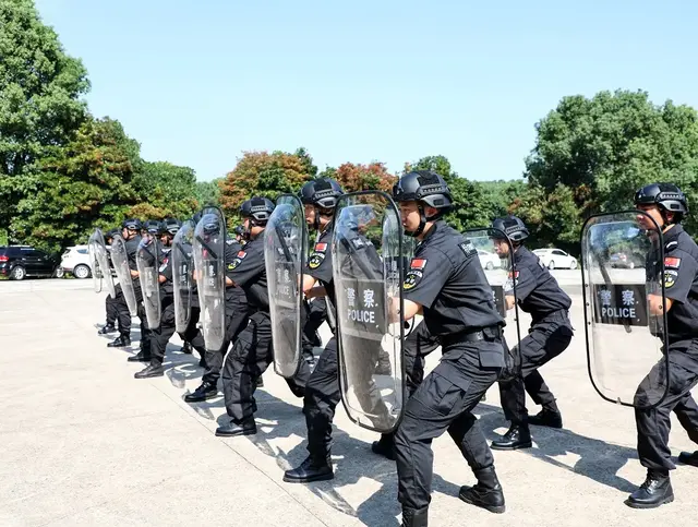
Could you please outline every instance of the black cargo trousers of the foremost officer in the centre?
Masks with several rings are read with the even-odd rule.
[[[452,345],[407,402],[395,434],[398,500],[404,507],[422,508],[431,502],[431,444],[446,430],[473,471],[493,466],[492,452],[472,410],[501,372],[482,357],[503,354],[500,339]]]

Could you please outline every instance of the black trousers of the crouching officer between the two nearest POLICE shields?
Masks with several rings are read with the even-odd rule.
[[[521,340],[521,373],[513,380],[500,382],[500,397],[504,416],[512,424],[528,422],[526,393],[537,405],[557,410],[555,396],[542,375],[540,367],[562,354],[574,335],[566,311],[552,313],[531,325],[529,334]]]

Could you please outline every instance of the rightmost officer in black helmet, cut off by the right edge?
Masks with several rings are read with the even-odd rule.
[[[634,508],[653,508],[674,500],[669,471],[676,468],[669,448],[671,412],[698,443],[698,406],[690,391],[698,384],[698,247],[683,229],[681,221],[688,213],[686,196],[671,183],[652,183],[635,194],[635,205],[657,223],[663,232],[664,276],[652,276],[652,282],[664,282],[666,306],[666,339],[669,349],[669,391],[659,406],[651,410],[635,410],[637,423],[637,452],[647,468],[647,479],[626,501]],[[643,215],[638,221],[652,235],[654,227]],[[655,235],[654,235],[655,236]],[[657,273],[661,270],[650,270]],[[651,314],[662,315],[660,295],[648,295]],[[664,379],[665,362],[658,363],[640,383],[636,404],[645,402],[648,392]],[[638,405],[642,406],[642,405]],[[682,453],[679,460],[698,465],[698,454]]]

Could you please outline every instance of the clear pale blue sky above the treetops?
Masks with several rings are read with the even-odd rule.
[[[37,0],[147,160],[224,176],[242,151],[392,171],[447,156],[514,179],[565,95],[698,107],[698,2]]]

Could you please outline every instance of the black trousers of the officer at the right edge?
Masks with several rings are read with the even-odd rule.
[[[640,463],[648,469],[673,470],[676,467],[669,448],[672,411],[688,432],[688,438],[698,443],[698,405],[690,395],[698,384],[698,339],[670,344],[669,379],[666,363],[657,363],[638,386],[635,404],[649,406],[648,399],[657,400],[650,394],[655,395],[658,384],[669,385],[662,403],[651,410],[635,410],[637,453]]]

